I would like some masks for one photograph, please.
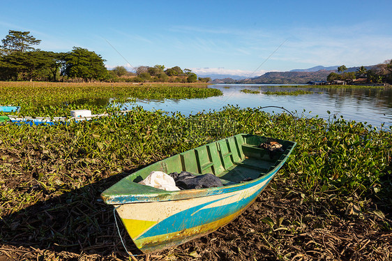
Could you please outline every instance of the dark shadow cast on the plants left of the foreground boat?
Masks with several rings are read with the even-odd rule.
[[[29,207],[0,218],[0,247],[10,251],[27,248],[57,253],[88,255],[126,255],[114,219],[113,207],[100,200],[100,193],[131,172],[122,172],[96,183],[53,196],[43,187],[29,193],[43,193],[41,200]],[[142,254],[133,244],[119,221],[119,231],[126,248],[134,255]]]

